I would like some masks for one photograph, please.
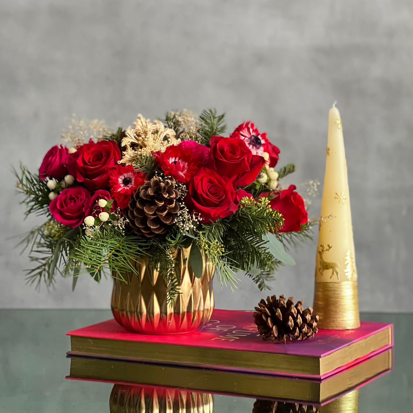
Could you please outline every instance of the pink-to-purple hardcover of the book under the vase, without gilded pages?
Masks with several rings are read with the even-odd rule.
[[[69,336],[89,337],[94,339],[112,339],[128,342],[139,343],[157,343],[157,344],[170,344],[181,345],[189,347],[204,347],[211,349],[223,349],[233,351],[252,351],[254,353],[270,353],[270,354],[285,354],[290,356],[307,356],[315,358],[323,358],[332,354],[333,352],[348,347],[360,340],[366,339],[371,335],[374,335],[382,330],[391,329],[391,337],[389,344],[380,347],[377,350],[370,352],[360,358],[357,358],[344,366],[341,366],[331,372],[324,375],[306,375],[279,372],[274,366],[274,371],[260,371],[243,368],[228,368],[226,366],[210,366],[205,364],[185,364],[195,367],[208,367],[208,368],[221,368],[238,371],[250,371],[254,373],[265,374],[281,374],[292,375],[295,377],[318,377],[325,378],[332,374],[348,368],[366,359],[374,354],[377,354],[384,349],[392,347],[393,343],[393,325],[386,323],[373,323],[368,321],[362,321],[359,328],[354,330],[322,330],[319,329],[318,333],[311,339],[304,341],[291,341],[286,344],[274,344],[271,341],[264,341],[258,334],[257,327],[253,322],[252,312],[250,311],[234,311],[234,310],[219,310],[216,309],[212,315],[211,320],[201,331],[197,331],[189,334],[182,335],[146,335],[137,334],[126,331],[121,325],[116,323],[114,319],[107,320],[102,323],[94,324],[89,327],[84,327],[78,330],[70,331],[66,333]],[[77,354],[83,356],[100,356],[99,354],[80,354],[69,351],[68,355]],[[107,357],[107,356],[106,356]],[[116,358],[110,357],[110,358]],[[139,360],[157,362],[151,359],[137,359],[135,357],[121,357],[128,360]],[[165,361],[162,361],[165,363]],[[180,363],[173,363],[180,364]]]

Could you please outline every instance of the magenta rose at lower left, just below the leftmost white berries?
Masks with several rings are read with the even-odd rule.
[[[64,189],[50,202],[49,209],[56,221],[76,228],[90,215],[90,192],[81,186]]]

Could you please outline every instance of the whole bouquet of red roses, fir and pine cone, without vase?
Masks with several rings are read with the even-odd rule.
[[[225,135],[215,110],[169,112],[164,121],[141,115],[126,130],[73,118],[45,155],[38,173],[21,166],[18,188],[26,215],[47,221],[23,242],[35,263],[28,280],[50,285],[57,273],[84,265],[100,280],[122,278],[133,261],[149,256],[168,282],[169,301],[180,280],[171,253],[190,250],[196,276],[202,257],[222,284],[235,286],[242,271],[267,287],[285,247],[309,237],[304,201],[281,180],[294,165],[275,171],[280,150],[246,122]]]

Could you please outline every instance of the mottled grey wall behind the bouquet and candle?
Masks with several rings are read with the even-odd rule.
[[[216,107],[229,129],[253,120],[294,161],[299,184],[323,181],[328,110],[342,115],[361,310],[412,311],[411,0],[0,1],[0,306],[109,308],[110,280],[71,292],[24,284],[9,237],[23,221],[11,165],[38,168],[64,118],[133,123],[168,109]],[[310,214],[319,214],[320,197]],[[317,232],[317,230],[316,230]],[[272,292],[311,304],[316,242],[293,253]],[[266,293],[241,277],[220,308]]]

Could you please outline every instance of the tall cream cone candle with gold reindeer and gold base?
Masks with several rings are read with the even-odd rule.
[[[328,118],[328,144],[316,255],[314,311],[319,328],[358,328],[357,270],[351,225],[343,128],[333,105]]]

